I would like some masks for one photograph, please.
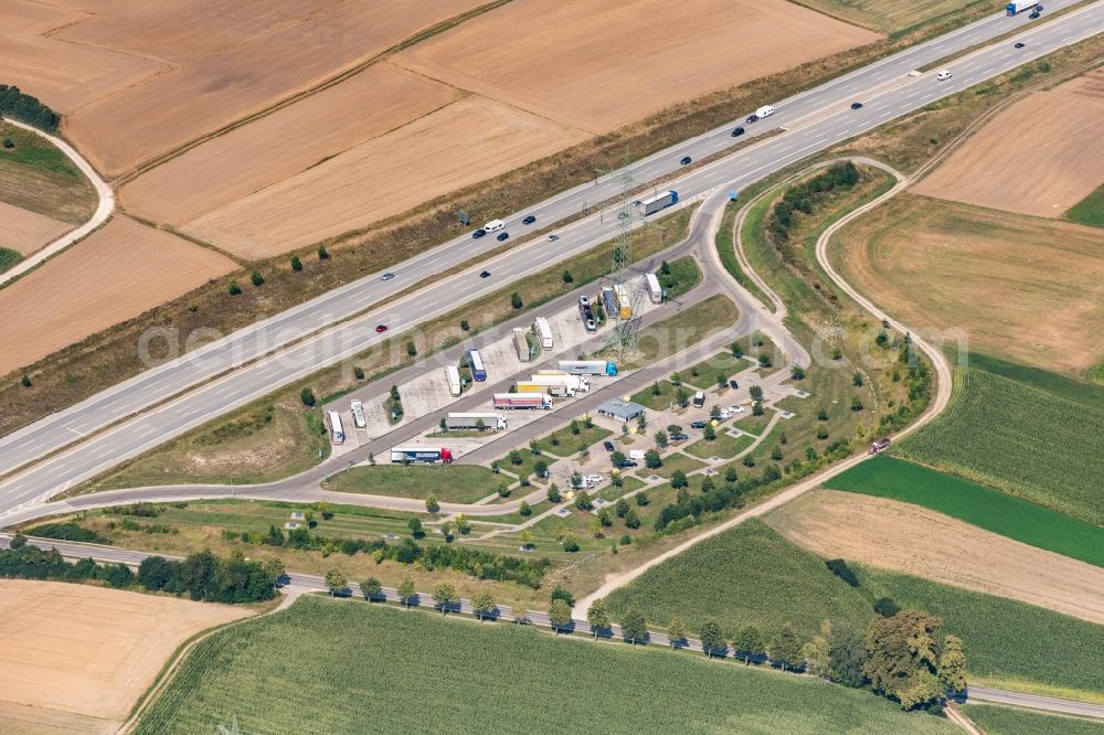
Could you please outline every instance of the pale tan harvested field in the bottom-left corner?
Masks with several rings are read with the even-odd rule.
[[[114,733],[180,643],[248,609],[0,579],[0,732]]]

